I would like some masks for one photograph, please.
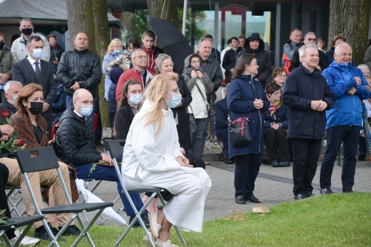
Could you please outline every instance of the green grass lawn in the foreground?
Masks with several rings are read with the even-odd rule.
[[[371,193],[333,194],[272,206],[264,216],[246,213],[243,220],[216,219],[203,224],[203,233],[182,232],[187,246],[371,246]],[[238,206],[233,206],[237,208]],[[232,208],[231,208],[232,209]],[[93,226],[97,247],[113,246],[123,227]],[[33,233],[28,234],[32,236]],[[181,245],[174,229],[172,242]],[[132,229],[120,246],[141,244],[144,232]],[[71,246],[67,237],[62,246]],[[43,241],[39,246],[47,246]],[[86,238],[80,246],[89,246]]]

